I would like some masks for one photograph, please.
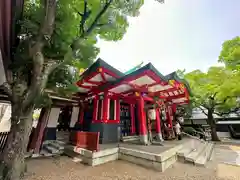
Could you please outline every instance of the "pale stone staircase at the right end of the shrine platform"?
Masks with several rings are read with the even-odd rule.
[[[213,148],[214,145],[211,142],[192,138],[177,152],[178,160],[197,166],[205,166],[211,158]]]

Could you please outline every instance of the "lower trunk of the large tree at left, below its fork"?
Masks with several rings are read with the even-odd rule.
[[[33,108],[21,112],[19,105],[12,105],[11,130],[1,154],[0,180],[19,180],[25,171],[25,153],[32,128]]]

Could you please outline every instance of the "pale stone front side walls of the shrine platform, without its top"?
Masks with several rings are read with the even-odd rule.
[[[137,165],[163,172],[177,161],[177,151],[182,145],[170,148],[160,154],[129,149],[124,147],[91,152],[86,149],[67,146],[64,152],[76,161],[90,166],[104,164],[114,160],[125,160]]]

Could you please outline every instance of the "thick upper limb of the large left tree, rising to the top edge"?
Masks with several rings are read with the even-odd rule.
[[[44,56],[42,54],[42,48],[52,36],[57,0],[44,0],[41,1],[45,9],[45,17],[41,23],[39,34],[35,41],[32,42],[33,46],[30,48],[30,56],[33,59],[33,71],[30,87],[25,95],[25,99],[22,103],[23,109],[27,109],[28,106],[34,101],[35,97],[40,93],[40,87],[45,85],[45,74],[42,76],[44,69]]]

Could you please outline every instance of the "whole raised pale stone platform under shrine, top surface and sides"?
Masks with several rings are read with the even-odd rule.
[[[144,146],[137,143],[104,144],[100,145],[99,152],[67,145],[64,152],[76,161],[90,166],[121,159],[163,172],[177,161],[177,152],[184,143],[185,141],[171,141],[164,142],[163,146]]]

